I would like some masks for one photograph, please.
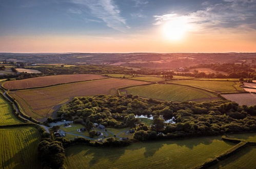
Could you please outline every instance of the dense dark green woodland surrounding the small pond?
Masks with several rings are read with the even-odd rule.
[[[57,115],[89,127],[94,122],[114,128],[130,126],[138,140],[256,131],[256,105],[241,107],[227,100],[196,103],[97,95],[75,97]],[[153,115],[152,125],[134,115]],[[172,117],[176,123],[164,123]]]

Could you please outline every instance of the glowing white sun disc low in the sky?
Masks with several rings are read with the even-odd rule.
[[[165,23],[162,28],[163,35],[166,39],[177,41],[185,37],[189,25],[184,19],[173,19]]]

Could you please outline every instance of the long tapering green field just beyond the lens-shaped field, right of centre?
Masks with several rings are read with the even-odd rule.
[[[212,92],[242,92],[237,81],[173,80],[171,83],[203,88]]]

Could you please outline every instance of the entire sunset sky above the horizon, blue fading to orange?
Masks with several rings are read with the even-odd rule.
[[[256,52],[256,0],[0,0],[0,52]]]

